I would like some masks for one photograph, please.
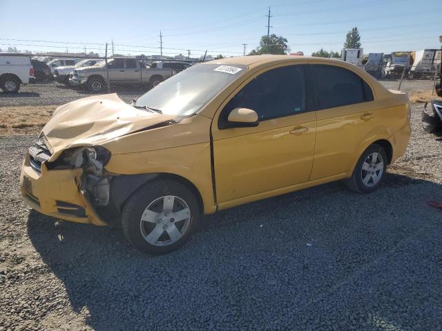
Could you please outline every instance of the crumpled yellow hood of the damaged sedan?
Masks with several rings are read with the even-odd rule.
[[[133,108],[113,93],[60,106],[42,132],[52,161],[66,148],[94,146],[174,118]]]

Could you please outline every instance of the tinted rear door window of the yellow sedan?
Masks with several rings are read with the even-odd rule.
[[[373,101],[372,89],[354,72],[322,64],[315,64],[311,67],[319,109]]]

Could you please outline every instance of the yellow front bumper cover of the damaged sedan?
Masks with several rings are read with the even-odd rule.
[[[41,163],[40,171],[30,165],[29,154],[23,161],[20,188],[23,200],[41,214],[95,225],[107,225],[79,190],[83,170],[48,170]]]

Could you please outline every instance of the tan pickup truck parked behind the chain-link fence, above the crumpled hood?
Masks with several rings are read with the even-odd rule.
[[[150,68],[135,58],[114,57],[108,60],[109,83],[111,85],[157,86],[168,79],[174,70],[170,68]],[[76,68],[69,78],[71,86],[84,86],[91,92],[103,92],[106,88],[106,63],[96,66]]]

